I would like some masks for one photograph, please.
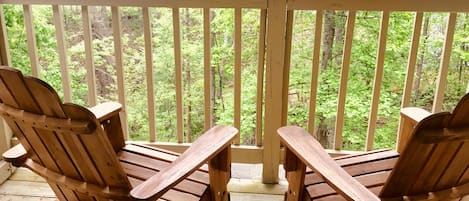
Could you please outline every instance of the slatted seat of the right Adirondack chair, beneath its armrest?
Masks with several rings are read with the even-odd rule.
[[[379,150],[337,157],[335,161],[347,173],[378,195],[398,157],[399,154],[394,150]],[[306,170],[305,188],[305,200],[345,200],[325,183],[320,175],[309,168]]]

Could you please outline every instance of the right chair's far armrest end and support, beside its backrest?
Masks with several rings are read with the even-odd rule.
[[[402,151],[404,151],[407,142],[412,136],[414,127],[422,119],[428,117],[431,114],[431,112],[417,107],[406,107],[401,109],[401,121],[399,125],[400,132],[397,136],[397,152],[402,153]]]

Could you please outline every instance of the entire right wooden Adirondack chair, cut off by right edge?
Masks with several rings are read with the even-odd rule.
[[[331,159],[302,128],[280,128],[286,200],[459,200],[468,194],[469,94],[452,113],[405,108],[401,115],[408,142],[400,142],[400,156],[374,151]]]

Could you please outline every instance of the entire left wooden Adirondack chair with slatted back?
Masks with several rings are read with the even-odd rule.
[[[60,200],[229,198],[235,128],[215,126],[178,157],[125,144],[120,104],[63,104],[45,82],[6,66],[0,67],[0,100],[0,113],[21,143],[4,159],[44,177]]]

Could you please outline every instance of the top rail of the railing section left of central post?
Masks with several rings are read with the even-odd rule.
[[[85,5],[169,8],[267,8],[267,0],[2,0],[0,4]]]

